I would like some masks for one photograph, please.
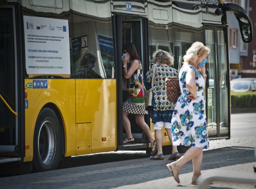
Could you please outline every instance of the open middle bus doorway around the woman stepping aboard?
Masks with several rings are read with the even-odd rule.
[[[138,54],[140,55],[140,60],[142,63],[142,69],[143,69],[143,74],[145,76],[146,71],[148,70],[148,47],[147,47],[147,27],[146,27],[146,18],[142,18],[141,16],[122,16],[122,15],[114,15],[114,18],[116,18],[116,30],[119,28],[120,32],[118,33],[118,36],[116,36],[118,43],[118,57],[120,60],[118,60],[118,64],[120,64],[120,67],[122,66],[121,61],[121,56],[122,56],[122,46],[126,43],[134,43],[136,46],[136,49],[138,51]],[[118,22],[119,20],[119,22]],[[142,35],[143,34],[143,35]],[[119,68],[119,70],[122,67]],[[128,98],[128,93],[127,93],[127,83],[126,79],[124,79],[122,76],[122,85],[120,90],[120,93],[122,93],[122,102],[125,102]],[[122,112],[122,102],[119,105],[119,112]],[[131,123],[131,131],[132,131],[132,136],[134,137],[134,144],[127,144],[127,145],[122,145],[123,138],[126,138],[126,132],[123,129],[122,126],[122,114],[119,115],[120,122],[118,124],[119,130],[119,149],[120,148],[142,148],[146,147],[148,145],[148,140],[146,136],[143,134],[140,126],[138,126],[135,122],[134,115],[128,115],[128,118]],[[148,115],[145,115],[145,121],[147,122],[148,125],[150,125]]]

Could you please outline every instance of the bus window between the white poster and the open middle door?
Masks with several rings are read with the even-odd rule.
[[[90,6],[90,2],[86,5]],[[85,5],[85,6],[86,6]],[[81,5],[84,6],[84,5]],[[87,7],[87,6],[86,6]],[[71,72],[79,67],[79,60],[88,52],[97,57],[95,66],[92,68],[102,78],[114,78],[114,55],[112,23],[110,18],[95,19],[90,14],[86,14],[86,9],[72,4],[70,10],[71,36],[72,36],[72,61]],[[96,8],[96,7],[94,7]],[[87,10],[89,11],[90,8]],[[96,12],[100,11],[98,7]]]

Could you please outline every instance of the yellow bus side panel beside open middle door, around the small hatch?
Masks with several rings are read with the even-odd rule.
[[[89,122],[92,153],[116,150],[116,80],[76,79],[76,123]]]

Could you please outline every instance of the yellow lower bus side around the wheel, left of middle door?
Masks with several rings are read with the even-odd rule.
[[[40,81],[47,81],[48,89],[25,90],[28,93],[25,135],[30,136],[26,137],[25,141],[25,144],[30,146],[26,150],[25,161],[31,161],[33,158],[33,136],[37,117],[30,115],[38,115],[49,103],[57,107],[62,117],[65,156],[116,150],[115,80],[41,79]],[[25,82],[31,85],[33,80],[26,79]],[[78,117],[77,121],[75,116]],[[103,137],[106,141],[102,141]],[[90,140],[91,138],[93,140]],[[89,142],[86,146],[82,144],[84,147],[81,148],[90,150],[81,150],[79,144],[83,140]]]

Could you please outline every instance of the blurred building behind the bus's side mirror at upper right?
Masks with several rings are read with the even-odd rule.
[[[253,23],[253,36],[255,37],[256,11],[255,0],[226,0],[239,4],[244,8]],[[256,44],[242,41],[238,22],[233,13],[228,13],[229,61],[231,79],[238,77],[256,77]],[[253,41],[255,39],[253,38]]]

